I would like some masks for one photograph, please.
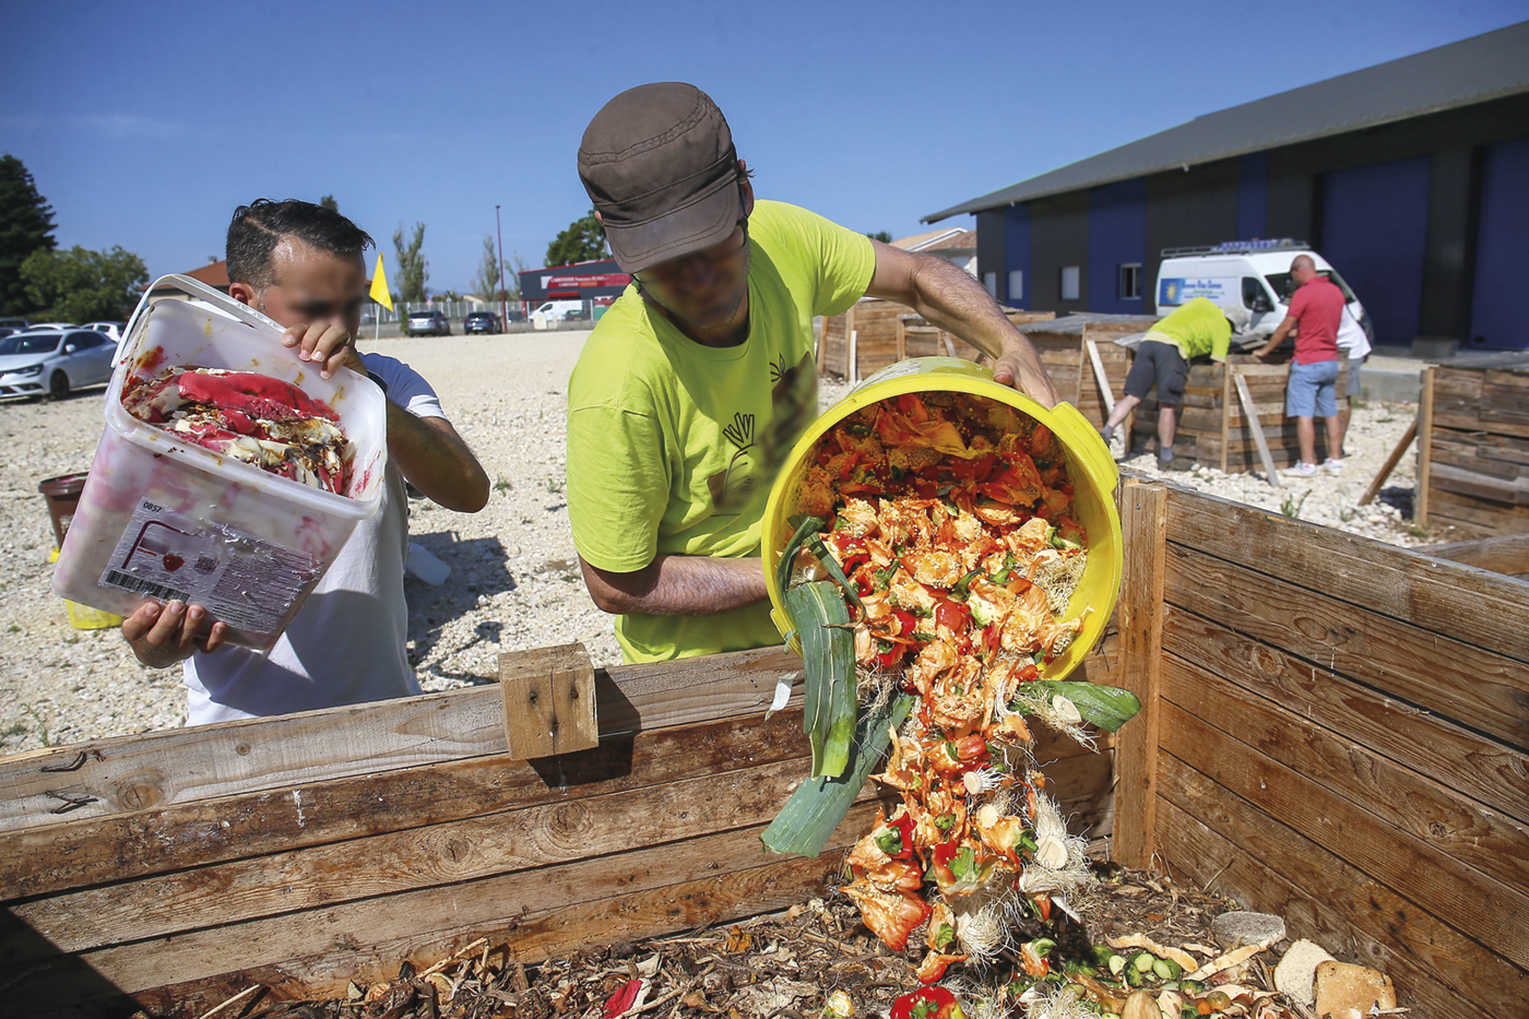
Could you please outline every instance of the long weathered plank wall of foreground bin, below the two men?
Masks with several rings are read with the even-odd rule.
[[[1112,632],[1084,673],[1116,664]],[[0,1011],[194,1019],[255,984],[344,998],[485,936],[531,962],[823,895],[876,799],[818,858],[763,852],[810,767],[800,689],[763,721],[798,669],[601,670],[599,747],[532,762],[505,753],[492,685],[0,759]],[[1096,848],[1099,745],[1037,750]]]

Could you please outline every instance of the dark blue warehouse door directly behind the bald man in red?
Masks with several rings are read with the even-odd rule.
[[[1375,341],[1417,335],[1428,239],[1428,158],[1323,174],[1321,254],[1375,323]]]

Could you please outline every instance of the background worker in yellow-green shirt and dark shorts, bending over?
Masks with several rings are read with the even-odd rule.
[[[1179,421],[1174,416],[1183,398],[1183,386],[1190,378],[1190,361],[1211,355],[1217,364],[1226,361],[1232,332],[1248,327],[1248,309],[1222,308],[1208,297],[1196,297],[1183,308],[1174,309],[1153,326],[1136,347],[1136,358],[1125,376],[1125,395],[1115,404],[1102,435],[1109,442],[1115,428],[1136,410],[1148,390],[1157,387],[1157,467],[1165,471],[1188,470],[1193,462],[1174,464],[1173,436]],[[1125,451],[1130,454],[1131,438],[1125,436]]]

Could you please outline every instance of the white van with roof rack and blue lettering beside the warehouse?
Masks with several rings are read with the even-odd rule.
[[[1290,260],[1307,254],[1316,271],[1342,291],[1364,332],[1373,338],[1364,304],[1326,259],[1304,240],[1229,240],[1206,248],[1164,248],[1157,268],[1157,311],[1168,311],[1196,297],[1208,297],[1222,308],[1242,304],[1248,309],[1248,330],[1269,335],[1281,321],[1295,286],[1290,283]]]

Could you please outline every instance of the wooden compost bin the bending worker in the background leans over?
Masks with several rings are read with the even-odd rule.
[[[1289,355],[1286,355],[1289,356]],[[1228,358],[1234,373],[1223,364],[1191,364],[1190,379],[1179,402],[1179,427],[1173,441],[1174,456],[1182,456],[1205,467],[1242,474],[1261,471],[1258,441],[1254,436],[1251,418],[1243,410],[1235,379],[1242,376],[1248,386],[1249,402],[1258,416],[1263,438],[1269,444],[1269,456],[1275,468],[1295,464],[1300,442],[1295,436],[1295,418],[1284,416],[1284,386],[1290,378],[1290,366],[1268,364],[1251,353],[1234,353]],[[1349,366],[1339,360],[1338,404],[1346,401],[1344,386],[1349,381]],[[1131,450],[1157,448],[1157,390],[1136,409],[1131,427]],[[1316,421],[1316,459],[1327,456],[1327,430]]]

